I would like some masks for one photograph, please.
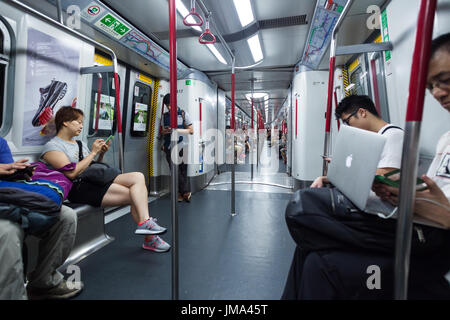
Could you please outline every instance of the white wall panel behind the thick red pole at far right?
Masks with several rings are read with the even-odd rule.
[[[408,102],[409,76],[415,45],[419,0],[391,1],[386,8],[387,33],[394,49],[386,56],[385,74],[391,122],[404,127]],[[402,19],[398,19],[401,16]],[[396,18],[397,17],[397,18]],[[382,24],[383,25],[383,24]],[[450,30],[450,1],[438,1],[433,38]],[[387,60],[387,61],[386,61]],[[450,128],[450,117],[429,92],[425,95],[424,116],[420,133],[422,156],[432,157],[439,137]]]

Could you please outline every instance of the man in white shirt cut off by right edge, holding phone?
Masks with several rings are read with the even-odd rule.
[[[430,57],[427,89],[450,112],[450,33],[433,40]],[[416,193],[414,213],[450,229],[450,131],[440,138],[433,162],[422,178],[428,190]],[[397,188],[377,184],[375,190],[383,200],[397,205]]]

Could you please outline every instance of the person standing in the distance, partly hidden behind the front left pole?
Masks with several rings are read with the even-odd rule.
[[[166,94],[163,99],[163,104],[167,107],[169,111],[163,114],[163,130],[162,136],[164,137],[163,151],[166,153],[166,160],[169,167],[172,165],[171,150],[170,150],[170,137],[172,134],[172,129],[170,128],[170,93]],[[163,106],[164,108],[164,106]],[[194,134],[194,128],[192,127],[192,121],[189,114],[182,110],[180,107],[177,108],[177,132],[178,134]],[[183,141],[183,137],[179,137],[178,143]],[[181,163],[178,165],[178,201],[191,202],[191,188],[189,186],[189,181],[187,178],[187,163],[183,159],[184,149],[179,151],[179,156],[181,158]],[[174,159],[175,160],[175,159]]]

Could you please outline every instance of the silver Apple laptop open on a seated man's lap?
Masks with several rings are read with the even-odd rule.
[[[366,212],[369,210],[369,195],[385,143],[386,137],[375,132],[342,126],[333,149],[333,160],[328,167],[328,180],[358,209]],[[372,201],[373,196],[370,198],[371,206],[372,202],[384,204],[378,197],[378,201]],[[390,213],[394,209],[390,205],[386,207],[383,209],[381,206],[377,211]]]

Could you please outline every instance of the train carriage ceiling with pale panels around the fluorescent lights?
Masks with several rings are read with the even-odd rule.
[[[191,0],[180,0],[189,10]],[[316,8],[314,0],[250,0],[254,20],[249,25],[242,27],[233,0],[202,0],[211,11],[211,31],[220,33],[228,46],[236,56],[236,66],[248,66],[255,64],[247,39],[258,34],[263,61],[247,70],[236,71],[236,102],[240,107],[250,113],[250,103],[246,94],[252,89],[256,93],[268,93],[268,104],[257,100],[256,105],[266,114],[266,121],[272,121],[284,100],[288,96],[289,85],[294,75],[294,67],[301,60],[305,45],[308,44],[308,35]],[[318,7],[327,4],[338,6],[346,0],[317,0]],[[367,8],[371,5],[383,7],[389,0],[357,0],[354,1],[349,14],[342,25],[342,36],[338,45],[363,43],[373,32],[366,27],[366,22],[371,16]],[[55,9],[49,8],[55,0],[22,0],[22,2],[55,16]],[[46,5],[43,5],[43,3]],[[168,32],[168,0],[101,0],[134,27],[140,29],[149,38],[157,42],[161,47],[169,50]],[[204,18],[199,5],[196,11]],[[316,19],[321,17],[316,16]],[[231,59],[223,45],[217,43],[215,47],[228,62],[227,65],[219,62],[214,54],[198,41],[200,31],[187,27],[182,23],[182,17],[177,13],[177,56],[187,66],[206,73],[211,80],[231,97]],[[316,24],[320,21],[316,21]],[[313,23],[314,24],[314,23]],[[204,26],[202,27],[204,30]],[[102,40],[102,36],[86,26],[82,32]],[[104,41],[101,41],[104,42]],[[168,73],[153,64],[143,63],[143,59],[124,48],[115,49],[117,55],[127,61],[136,61],[135,67],[150,72],[155,76],[168,78]],[[329,45],[327,45],[329,47]],[[131,59],[130,59],[131,57]],[[345,63],[350,56],[340,56],[336,64]],[[320,63],[316,69],[328,69],[329,48],[324,51]],[[324,92],[326,94],[326,92]],[[267,100],[267,97],[264,98]]]

